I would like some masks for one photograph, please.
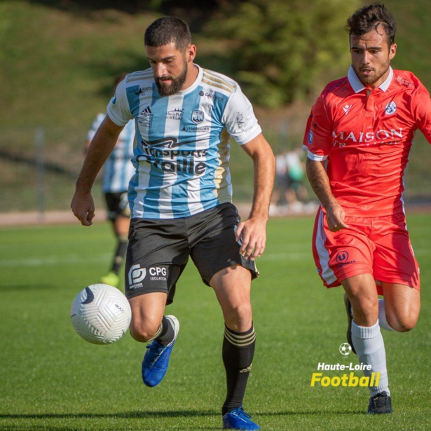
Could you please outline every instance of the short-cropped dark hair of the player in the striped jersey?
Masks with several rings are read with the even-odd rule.
[[[184,52],[191,43],[189,26],[179,18],[166,16],[158,18],[145,31],[146,46],[163,46],[175,43],[177,50]]]

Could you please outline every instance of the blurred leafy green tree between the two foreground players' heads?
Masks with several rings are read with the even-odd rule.
[[[205,27],[228,39],[235,78],[257,104],[282,107],[321,90],[350,64],[346,20],[359,0],[223,1]]]

